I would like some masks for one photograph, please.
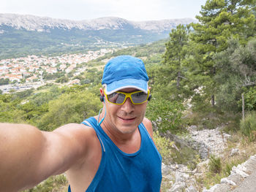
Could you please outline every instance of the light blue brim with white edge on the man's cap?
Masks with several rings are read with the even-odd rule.
[[[144,93],[148,93],[148,82],[146,80],[136,79],[114,81],[108,85],[105,84],[105,93],[109,95],[124,88],[136,88]]]

